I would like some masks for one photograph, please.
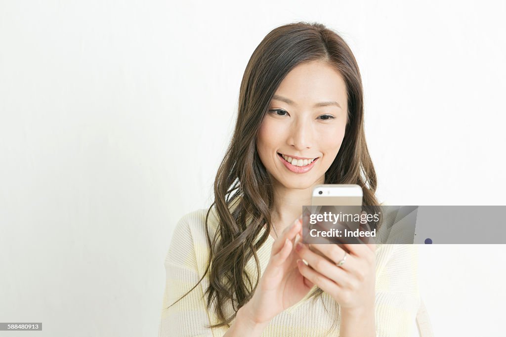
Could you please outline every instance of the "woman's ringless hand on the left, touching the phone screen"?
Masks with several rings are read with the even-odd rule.
[[[301,301],[313,287],[297,267],[300,258],[293,250],[297,234],[302,237],[302,216],[273,243],[271,258],[253,297],[239,309],[241,316],[252,323],[267,324],[277,314]]]

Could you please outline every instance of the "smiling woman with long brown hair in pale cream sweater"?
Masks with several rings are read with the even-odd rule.
[[[358,184],[365,208],[378,205],[360,72],[338,34],[288,24],[247,64],[215,202],[176,227],[159,335],[410,335],[413,245],[296,244],[323,183]]]

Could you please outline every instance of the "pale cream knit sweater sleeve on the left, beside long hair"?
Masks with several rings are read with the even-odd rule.
[[[176,225],[164,262],[166,283],[158,337],[213,336],[212,329],[208,327],[202,282],[179,300],[202,276],[196,251],[202,248],[195,243],[191,230],[199,223],[199,214],[194,212],[184,216]]]

